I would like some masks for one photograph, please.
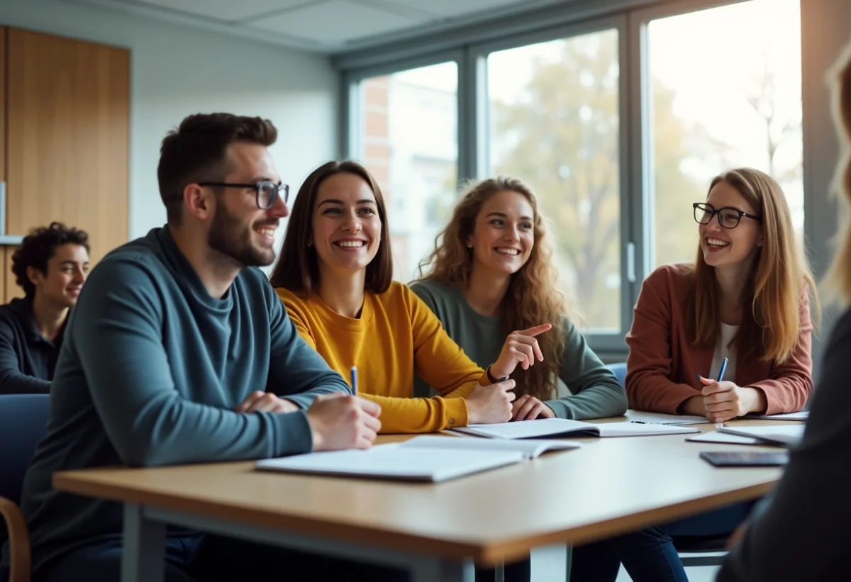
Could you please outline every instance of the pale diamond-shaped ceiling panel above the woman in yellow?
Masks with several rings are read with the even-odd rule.
[[[428,17],[392,14],[368,4],[331,0],[290,12],[255,20],[251,26],[308,38],[328,46],[342,47],[346,41],[371,37],[425,24]]]

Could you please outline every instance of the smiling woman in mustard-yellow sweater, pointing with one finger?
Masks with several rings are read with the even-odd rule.
[[[384,198],[366,168],[328,162],[301,186],[271,284],[299,334],[381,406],[381,432],[440,431],[511,419],[507,376],[542,359],[534,336],[549,324],[509,335],[483,371],[449,338],[431,310],[400,282]],[[414,375],[440,394],[413,398]]]

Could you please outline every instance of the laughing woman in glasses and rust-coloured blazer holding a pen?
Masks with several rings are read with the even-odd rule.
[[[809,293],[818,294],[795,241],[780,185],[734,169],[694,203],[694,265],[665,265],[644,282],[626,343],[633,408],[722,422],[801,410],[812,391]],[[718,374],[724,358],[722,381]],[[672,535],[726,535],[751,503],[574,549],[574,580],[686,580]]]

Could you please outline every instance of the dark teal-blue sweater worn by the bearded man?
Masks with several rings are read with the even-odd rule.
[[[302,410],[234,412],[255,390]],[[26,473],[21,508],[34,571],[122,531],[119,504],[54,491],[54,471],[305,453],[305,408],[337,391],[349,388],[296,333],[259,269],[243,269],[216,299],[167,229],[117,248],[94,268],[71,314],[48,434]]]

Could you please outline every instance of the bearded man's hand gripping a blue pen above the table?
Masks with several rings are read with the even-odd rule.
[[[381,430],[380,414],[378,404],[351,394],[340,392],[316,397],[307,409],[313,450],[370,448]]]

